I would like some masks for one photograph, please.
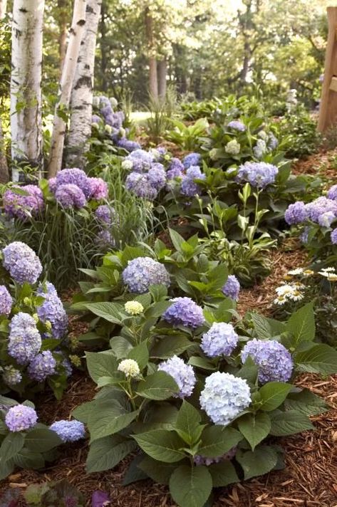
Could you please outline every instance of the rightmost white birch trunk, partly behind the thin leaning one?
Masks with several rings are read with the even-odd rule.
[[[93,73],[102,0],[87,0],[85,30],[71,92],[71,125],[66,147],[66,166],[84,167],[93,113]]]

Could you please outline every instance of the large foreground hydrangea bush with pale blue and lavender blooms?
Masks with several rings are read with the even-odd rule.
[[[100,390],[73,416],[90,432],[88,472],[136,452],[125,484],[150,477],[179,506],[202,507],[213,488],[284,466],[276,437],[313,429],[309,416],[327,409],[296,376],[335,373],[337,352],[314,343],[310,304],[286,322],[231,322],[226,300],[174,298],[151,311],[161,287],[115,308],[119,335],[86,355]]]

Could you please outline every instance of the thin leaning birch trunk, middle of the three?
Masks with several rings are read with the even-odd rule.
[[[56,173],[62,166],[64,138],[66,135],[64,113],[66,113],[69,106],[71,89],[76,73],[76,63],[85,26],[85,7],[86,0],[74,0],[71,35],[63,65],[61,82],[58,90],[58,102],[54,114],[53,134],[51,135],[51,155],[48,165],[48,177],[50,178],[56,176]]]

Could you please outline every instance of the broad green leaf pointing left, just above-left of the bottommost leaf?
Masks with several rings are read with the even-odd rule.
[[[165,463],[175,463],[185,458],[182,448],[184,441],[175,432],[167,429],[153,429],[151,432],[133,435],[140,448],[151,458]]]

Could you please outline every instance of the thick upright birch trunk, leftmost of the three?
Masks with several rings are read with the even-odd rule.
[[[11,53],[11,156],[41,175],[41,74],[44,0],[14,0]],[[19,181],[18,169],[12,179]]]

